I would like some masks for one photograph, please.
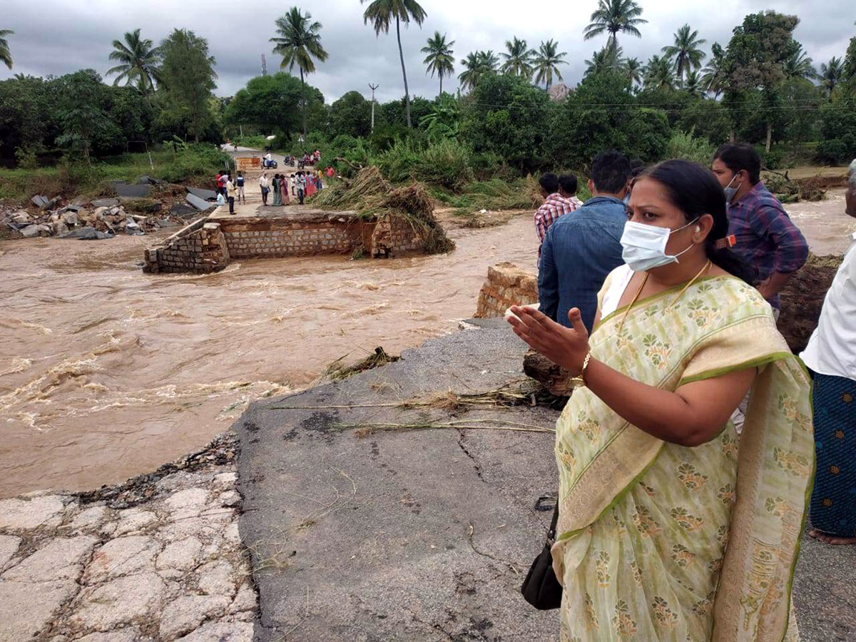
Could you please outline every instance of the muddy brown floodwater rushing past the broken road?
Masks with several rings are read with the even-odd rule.
[[[815,253],[856,231],[841,190],[788,211]],[[204,276],[143,274],[166,233],[0,241],[0,497],[151,471],[344,355],[456,330],[490,265],[536,269],[530,216],[448,229],[448,256],[257,259]]]

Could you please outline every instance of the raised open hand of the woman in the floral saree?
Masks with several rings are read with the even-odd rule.
[[[511,312],[515,316],[508,316],[508,323],[514,328],[514,334],[572,375],[580,373],[589,351],[588,330],[583,324],[580,308],[568,311],[571,328],[557,324],[543,312],[526,306],[511,306]]]

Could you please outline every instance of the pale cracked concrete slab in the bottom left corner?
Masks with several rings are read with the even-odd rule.
[[[0,642],[252,642],[235,438],[124,484],[0,500]]]

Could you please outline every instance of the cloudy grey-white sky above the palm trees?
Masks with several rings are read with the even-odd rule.
[[[620,38],[628,56],[643,60],[671,44],[672,34],[688,22],[698,29],[710,51],[713,42],[725,45],[731,30],[747,13],[775,9],[800,17],[795,37],[805,45],[815,65],[831,56],[843,56],[847,42],[856,36],[856,3],[853,0],[823,0],[823,9],[812,0],[640,0],[648,24],[641,27],[642,38]],[[369,94],[368,83],[378,83],[381,101],[403,95],[401,66],[395,33],[376,38],[363,24],[365,6],[359,0],[292,0],[291,2],[242,3],[223,0],[3,0],[0,28],[13,29],[9,47],[15,67],[0,66],[0,80],[13,74],[61,75],[79,68],[100,73],[112,65],[107,59],[110,43],[137,27],[156,43],[175,27],[193,29],[208,39],[217,58],[217,94],[229,96],[260,73],[260,56],[267,55],[268,69],[276,70],[280,59],[270,52],[274,20],[296,4],[322,23],[321,36],[330,58],[318,66],[310,81],[328,101],[344,92]],[[425,74],[420,49],[435,31],[455,41],[455,58],[460,61],[477,49],[504,50],[503,43],[516,35],[531,47],[542,40],[556,39],[560,51],[567,51],[568,65],[562,66],[566,84],[574,86],[586,68],[591,53],[606,38],[582,38],[589,15],[597,0],[576,3],[558,0],[422,0],[428,14],[421,28],[402,29],[407,74],[411,92],[426,97],[437,93],[437,79]],[[814,9],[812,9],[812,7]],[[461,72],[456,65],[455,75]],[[452,85],[452,87],[449,87]],[[454,88],[456,81],[445,81]]]

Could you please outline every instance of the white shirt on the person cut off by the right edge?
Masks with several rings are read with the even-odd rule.
[[[814,372],[856,380],[856,233],[800,357]]]

